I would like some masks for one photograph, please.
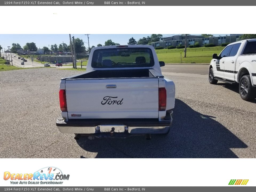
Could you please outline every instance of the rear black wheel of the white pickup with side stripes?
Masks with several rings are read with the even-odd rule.
[[[251,85],[250,75],[244,75],[239,82],[239,93],[243,100],[249,101],[253,97],[253,86]]]

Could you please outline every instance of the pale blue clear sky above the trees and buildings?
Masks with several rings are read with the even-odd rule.
[[[111,39],[115,43],[120,45],[127,45],[129,39],[133,37],[138,41],[142,37],[150,36],[151,34],[89,34],[89,44],[91,46],[97,46],[99,43],[104,45],[105,41]],[[162,34],[164,37],[170,37],[177,34]],[[193,34],[200,35],[200,34]],[[213,34],[214,36],[225,36],[226,34]],[[229,35],[229,34],[228,34]],[[88,49],[88,38],[85,34],[71,34],[71,37],[80,38],[85,43],[86,49]],[[37,48],[51,47],[55,43],[59,46],[64,42],[69,45],[69,34],[0,34],[0,45],[7,49],[8,46],[12,46],[12,43],[19,43],[21,47],[26,43],[34,42]]]

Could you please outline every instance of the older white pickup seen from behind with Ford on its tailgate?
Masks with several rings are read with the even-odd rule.
[[[95,47],[87,72],[61,79],[62,133],[127,137],[168,133],[175,85],[163,77],[152,46]]]

